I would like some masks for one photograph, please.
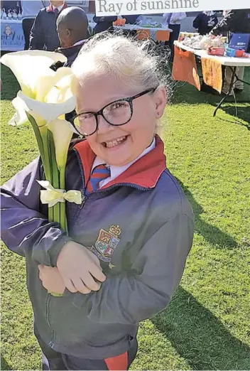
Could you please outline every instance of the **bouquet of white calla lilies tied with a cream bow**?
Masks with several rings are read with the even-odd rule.
[[[5,54],[0,61],[12,70],[21,86],[12,101],[16,113],[9,124],[31,122],[45,173],[45,181],[39,182],[45,188],[41,201],[48,203],[48,219],[67,230],[65,200],[75,203],[81,200],[79,190],[65,192],[67,151],[74,132],[65,114],[75,109],[76,98],[71,89],[71,69],[50,68],[53,63],[65,60],[60,53],[31,50]]]

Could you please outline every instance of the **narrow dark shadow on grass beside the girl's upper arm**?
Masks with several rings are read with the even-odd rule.
[[[188,190],[188,187],[186,187],[180,179],[176,179],[192,205],[192,210],[195,214],[195,232],[197,232],[198,235],[202,235],[207,242],[210,242],[210,244],[213,244],[214,247],[219,249],[232,249],[237,247],[237,242],[230,235],[227,235],[227,233],[219,230],[218,227],[214,227],[200,218],[200,215],[204,211],[202,206],[197,203],[190,190]]]

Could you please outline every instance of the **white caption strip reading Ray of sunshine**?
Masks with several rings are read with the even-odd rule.
[[[250,0],[95,0],[97,16],[248,9]]]

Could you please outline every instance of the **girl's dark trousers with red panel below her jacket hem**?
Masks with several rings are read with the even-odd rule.
[[[34,332],[40,348],[42,349],[43,370],[129,370],[129,366],[134,361],[137,353],[137,340],[134,338],[131,348],[124,355],[108,358],[106,360],[88,360],[86,358],[75,357],[59,352],[55,352],[43,342],[37,333],[36,326]],[[126,363],[127,367],[122,367]]]

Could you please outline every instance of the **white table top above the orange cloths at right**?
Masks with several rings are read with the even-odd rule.
[[[207,54],[207,50],[197,50],[194,48],[190,48],[190,46],[184,45],[183,43],[180,43],[180,41],[175,41],[174,44],[175,46],[178,46],[178,48],[190,51],[201,58],[205,57],[219,60],[222,65],[229,65],[231,67],[250,67],[250,58],[219,57],[218,55]]]

